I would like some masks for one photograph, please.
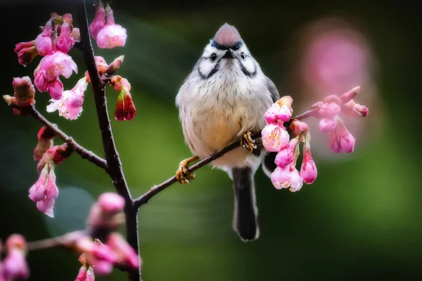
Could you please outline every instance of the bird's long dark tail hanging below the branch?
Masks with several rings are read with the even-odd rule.
[[[231,170],[234,183],[233,228],[244,242],[256,240],[260,236],[254,174],[250,167]]]

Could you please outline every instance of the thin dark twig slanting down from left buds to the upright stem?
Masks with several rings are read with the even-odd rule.
[[[34,106],[27,108],[27,112],[32,117],[34,117],[34,119],[37,119],[39,122],[41,122],[41,124],[49,127],[49,129],[51,129],[51,131],[53,131],[56,136],[68,143],[70,148],[79,154],[82,159],[87,159],[89,162],[92,162],[103,169],[107,169],[107,162],[105,159],[99,157],[94,152],[87,150],[87,148],[84,148],[82,145],[79,145],[79,143],[77,143],[72,137],[68,136],[64,131],[58,129],[56,124],[49,122],[49,120],[41,115],[41,113],[39,113],[39,111]]]

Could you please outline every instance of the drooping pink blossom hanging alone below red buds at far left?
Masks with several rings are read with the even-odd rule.
[[[28,196],[33,202],[37,202],[39,211],[53,218],[54,199],[58,197],[58,187],[56,174],[49,164],[41,170],[38,181],[32,185]]]

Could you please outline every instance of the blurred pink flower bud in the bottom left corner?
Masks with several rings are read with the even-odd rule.
[[[26,242],[21,235],[11,235],[6,241],[7,255],[1,264],[6,280],[27,279],[30,270],[25,260]]]

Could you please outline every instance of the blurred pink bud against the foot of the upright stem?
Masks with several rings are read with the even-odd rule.
[[[111,233],[108,236],[107,245],[117,254],[117,263],[139,268],[139,256],[120,233]]]

